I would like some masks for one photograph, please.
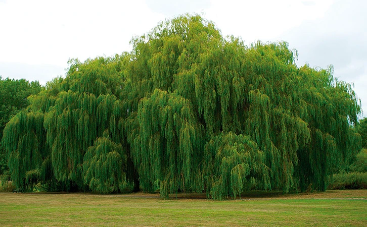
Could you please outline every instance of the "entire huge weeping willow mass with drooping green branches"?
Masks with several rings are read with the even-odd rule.
[[[113,58],[72,60],[8,123],[3,143],[18,187],[57,181],[110,193],[132,183],[166,198],[216,199],[323,191],[333,166],[359,149],[351,85],[332,67],[298,68],[286,42],[246,46],[185,15],[131,43]],[[27,150],[36,146],[39,154]]]

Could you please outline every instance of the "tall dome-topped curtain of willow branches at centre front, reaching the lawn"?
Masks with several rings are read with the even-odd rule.
[[[195,191],[193,184],[200,173],[204,146],[203,129],[196,122],[192,103],[176,93],[156,89],[140,101],[139,142],[132,156],[139,166],[141,184],[154,190],[159,183],[161,194]],[[135,142],[135,143],[134,143]]]

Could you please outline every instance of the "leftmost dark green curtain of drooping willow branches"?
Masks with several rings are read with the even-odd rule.
[[[4,129],[2,143],[8,151],[10,176],[17,188],[26,190],[45,179],[39,174],[45,170],[43,162],[49,153],[43,118],[41,112],[22,110]]]

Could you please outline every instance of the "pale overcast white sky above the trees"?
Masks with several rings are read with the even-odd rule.
[[[160,21],[199,13],[224,36],[289,42],[297,65],[354,83],[367,117],[367,1],[364,0],[0,0],[0,75],[41,84],[84,61],[130,51]]]

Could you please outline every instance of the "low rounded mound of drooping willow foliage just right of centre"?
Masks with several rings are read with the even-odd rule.
[[[265,154],[249,136],[229,132],[210,140],[205,146],[203,172],[207,193],[214,199],[236,198],[253,184],[271,189]]]

